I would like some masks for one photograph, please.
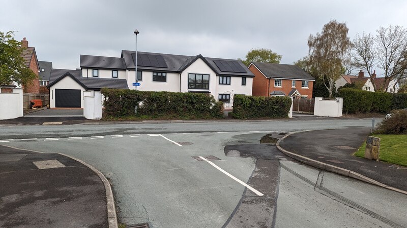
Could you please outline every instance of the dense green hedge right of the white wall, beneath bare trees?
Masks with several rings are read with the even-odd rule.
[[[350,88],[338,91],[338,97],[343,97],[343,111],[346,113],[389,112],[394,106],[393,96],[391,93]]]

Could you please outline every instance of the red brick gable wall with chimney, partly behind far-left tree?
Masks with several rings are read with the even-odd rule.
[[[26,66],[33,70],[33,72],[37,75],[37,78],[34,79],[31,83],[22,86],[23,91],[24,93],[39,93],[40,81],[38,73],[40,70],[40,66],[38,64],[37,53],[35,52],[34,47],[28,47],[28,41],[25,40],[25,37],[21,41],[21,47],[25,48],[22,52],[22,57],[25,61]]]

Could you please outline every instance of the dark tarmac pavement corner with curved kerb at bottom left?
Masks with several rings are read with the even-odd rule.
[[[0,146],[0,227],[114,227],[100,175],[69,156]]]

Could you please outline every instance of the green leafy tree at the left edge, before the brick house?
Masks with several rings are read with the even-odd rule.
[[[23,48],[21,42],[14,40],[13,31],[0,31],[0,85],[27,85],[37,78],[37,75],[25,65],[21,57]]]

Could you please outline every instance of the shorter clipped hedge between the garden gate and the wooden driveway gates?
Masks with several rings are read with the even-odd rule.
[[[291,103],[289,97],[235,95],[232,117],[237,119],[287,118]]]

